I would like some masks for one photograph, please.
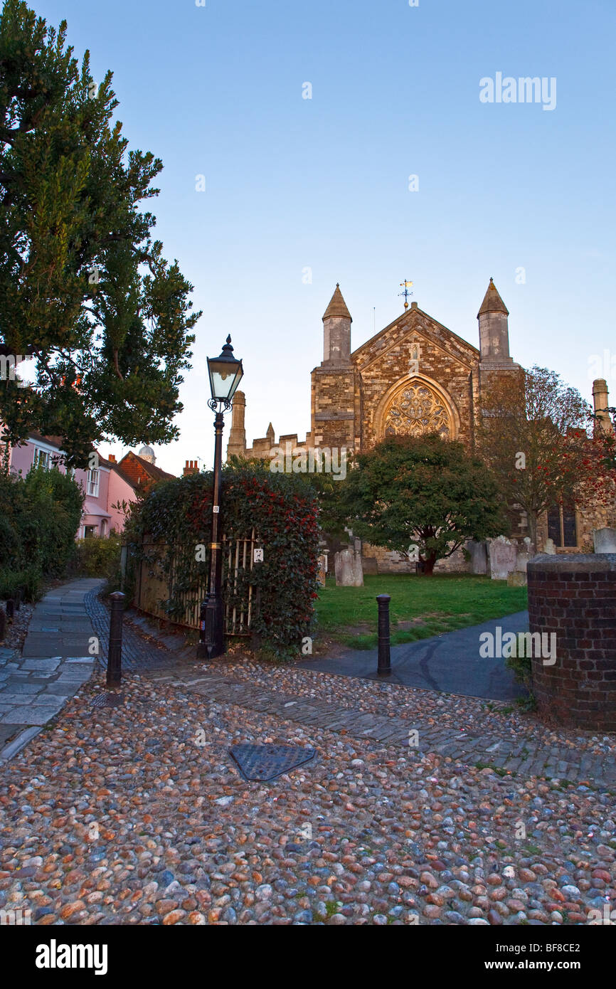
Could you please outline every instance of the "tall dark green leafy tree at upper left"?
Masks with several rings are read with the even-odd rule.
[[[101,85],[23,0],[0,17],[0,355],[34,358],[36,383],[0,383],[12,444],[62,437],[67,464],[117,437],[165,443],[190,367],[192,285],[140,207],[162,163],[128,150],[112,73]]]

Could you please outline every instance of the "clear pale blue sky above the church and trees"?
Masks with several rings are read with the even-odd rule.
[[[158,466],[211,465],[205,358],[227,333],[248,442],[270,420],[304,438],[336,282],[353,348],[402,312],[405,278],[420,309],[478,345],[493,276],[514,359],[588,399],[605,377],[616,405],[614,0],[30,6],[67,20],[97,81],[114,71],[125,135],[165,166],[148,208],[204,315],[181,438],[155,448]],[[483,103],[480,80],[498,72],[556,79],[556,107]]]

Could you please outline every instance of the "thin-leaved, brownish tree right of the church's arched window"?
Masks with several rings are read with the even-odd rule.
[[[539,515],[572,500],[586,475],[589,419],[579,393],[547,368],[498,376],[484,393],[478,448],[507,505],[527,513],[535,546]]]

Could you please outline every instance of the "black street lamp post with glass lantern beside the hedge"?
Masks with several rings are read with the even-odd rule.
[[[210,543],[210,580],[205,601],[204,637],[197,650],[198,659],[216,659],[224,652],[224,619],[220,584],[222,577],[220,482],[222,474],[222,428],[224,412],[231,407],[231,400],[244,373],[241,361],[233,357],[230,336],[222,347],[220,357],[208,357],[208,372],[212,398],[208,405],[216,413],[214,420],[214,490],[212,494],[212,541]]]

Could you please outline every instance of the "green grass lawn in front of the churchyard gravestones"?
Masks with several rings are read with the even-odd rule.
[[[508,587],[506,581],[472,574],[370,575],[364,577],[363,587],[336,587],[328,578],[316,603],[318,632],[354,649],[374,649],[377,594],[392,596],[393,645],[479,625],[527,607],[526,587]]]

